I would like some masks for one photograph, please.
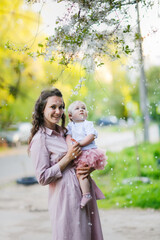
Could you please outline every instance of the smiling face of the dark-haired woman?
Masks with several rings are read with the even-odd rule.
[[[44,126],[55,129],[56,124],[64,112],[64,103],[61,97],[52,96],[47,99],[44,109]]]

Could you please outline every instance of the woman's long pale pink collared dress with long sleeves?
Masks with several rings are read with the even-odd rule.
[[[59,132],[42,128],[30,145],[37,180],[41,185],[49,186],[52,240],[103,240],[96,199],[102,199],[104,195],[90,179],[93,199],[80,209],[82,193],[75,168],[70,164],[61,172],[58,165],[67,152],[60,127]]]

